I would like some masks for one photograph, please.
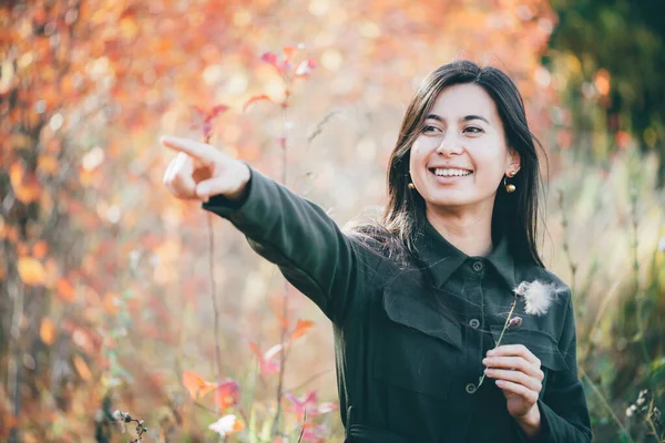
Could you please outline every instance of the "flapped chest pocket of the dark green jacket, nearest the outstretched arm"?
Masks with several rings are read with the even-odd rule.
[[[446,401],[461,357],[462,326],[408,279],[383,290],[378,309],[372,374],[405,391]]]

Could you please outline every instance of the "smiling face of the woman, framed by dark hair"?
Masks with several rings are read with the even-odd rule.
[[[493,205],[503,175],[519,169],[520,155],[507,146],[501,117],[485,90],[458,84],[441,91],[426,116],[409,167],[428,210]]]

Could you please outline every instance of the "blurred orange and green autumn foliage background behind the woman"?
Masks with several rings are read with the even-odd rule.
[[[416,85],[461,56],[510,73],[548,150],[542,250],[574,290],[594,441],[662,442],[664,14],[657,0],[2,2],[0,440],[217,441],[225,416],[225,441],[341,441],[329,323],[229,224],[170,196],[157,138],[203,140],[208,115],[211,143],[344,225],[382,205]],[[147,431],[122,434],[115,410]]]

